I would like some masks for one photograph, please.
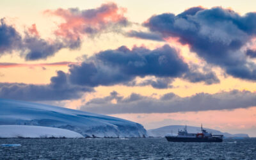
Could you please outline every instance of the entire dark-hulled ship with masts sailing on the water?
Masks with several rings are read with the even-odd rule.
[[[198,133],[188,133],[187,125],[183,130],[178,130],[177,136],[168,135],[165,136],[166,140],[173,142],[222,142],[222,134],[211,134],[203,129],[201,125],[201,132]]]

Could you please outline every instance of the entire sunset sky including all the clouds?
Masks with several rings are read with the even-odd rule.
[[[1,1],[0,98],[256,137],[256,1]]]

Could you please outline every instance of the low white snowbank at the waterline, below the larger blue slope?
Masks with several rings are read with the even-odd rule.
[[[83,138],[81,134],[67,129],[33,125],[0,125],[0,138]]]

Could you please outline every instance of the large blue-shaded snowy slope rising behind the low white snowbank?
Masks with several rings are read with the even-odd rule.
[[[79,132],[84,137],[139,138],[142,125],[84,111],[45,104],[0,99],[0,125],[39,125]]]

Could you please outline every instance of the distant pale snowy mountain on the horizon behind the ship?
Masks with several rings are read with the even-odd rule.
[[[184,129],[185,125],[168,125],[164,127],[160,127],[157,129],[149,129],[148,136],[152,137],[164,137],[166,134],[172,134],[176,135],[178,130]],[[223,134],[226,138],[233,138],[233,137],[239,137],[239,138],[248,138],[248,134],[230,134],[228,132],[221,132],[215,129],[206,129],[208,132],[211,132],[212,134]],[[201,127],[193,127],[187,125],[187,131],[188,132],[200,132]]]

